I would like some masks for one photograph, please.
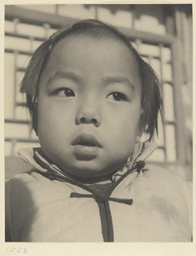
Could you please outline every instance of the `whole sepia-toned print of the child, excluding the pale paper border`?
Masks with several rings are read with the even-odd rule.
[[[6,242],[193,242],[192,4],[4,9]]]

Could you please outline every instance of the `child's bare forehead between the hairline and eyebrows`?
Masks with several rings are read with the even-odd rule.
[[[76,34],[61,38],[51,50],[43,77],[52,76],[58,69],[72,69],[86,76],[89,73],[132,76],[140,80],[135,55],[117,37]]]

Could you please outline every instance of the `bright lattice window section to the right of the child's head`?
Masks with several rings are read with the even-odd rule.
[[[164,125],[159,116],[159,137],[153,137],[159,148],[150,158],[159,161],[176,161],[176,120],[174,111],[173,71],[171,61],[171,49],[163,43],[142,44],[141,40],[135,40],[135,48],[141,57],[153,67],[161,80],[161,89],[164,100]],[[145,137],[144,137],[145,140]]]

